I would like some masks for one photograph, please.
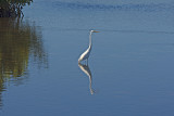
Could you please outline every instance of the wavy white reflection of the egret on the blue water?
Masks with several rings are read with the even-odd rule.
[[[89,89],[90,89],[90,93],[94,94],[95,91],[91,88],[92,76],[91,76],[91,72],[89,69],[89,66],[85,65],[85,64],[80,64],[80,63],[78,63],[78,66],[89,77]]]

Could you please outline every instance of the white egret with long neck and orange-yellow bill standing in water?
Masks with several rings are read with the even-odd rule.
[[[90,30],[90,34],[89,34],[89,48],[79,56],[78,59],[78,63],[80,63],[80,61],[84,61],[84,60],[87,60],[88,62],[88,57],[89,57],[89,54],[90,54],[90,51],[91,51],[91,34],[92,33],[99,33],[99,31],[96,31],[96,30]]]

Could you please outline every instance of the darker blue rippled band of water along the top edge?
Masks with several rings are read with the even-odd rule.
[[[149,3],[149,4],[91,4],[83,2],[62,2],[57,1],[53,3],[57,8],[61,9],[74,9],[74,10],[116,10],[116,11],[169,11],[174,10],[173,3]]]

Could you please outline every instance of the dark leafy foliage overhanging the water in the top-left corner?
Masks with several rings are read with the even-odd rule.
[[[21,17],[22,9],[33,0],[0,0],[0,17]]]

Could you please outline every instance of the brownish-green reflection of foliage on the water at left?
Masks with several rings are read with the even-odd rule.
[[[5,83],[21,85],[28,76],[29,61],[48,66],[41,29],[20,18],[0,18],[0,106]]]

